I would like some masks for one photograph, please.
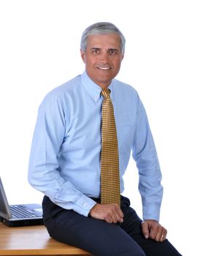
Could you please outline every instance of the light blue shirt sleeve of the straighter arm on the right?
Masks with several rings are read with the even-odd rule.
[[[139,97],[138,105],[132,156],[139,171],[139,193],[142,197],[143,219],[158,221],[163,196],[161,170],[148,117]]]

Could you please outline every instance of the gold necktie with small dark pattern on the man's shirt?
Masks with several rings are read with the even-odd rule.
[[[102,89],[101,203],[120,205],[118,140],[110,89]]]

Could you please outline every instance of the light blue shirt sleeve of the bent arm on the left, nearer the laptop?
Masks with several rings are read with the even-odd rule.
[[[32,187],[50,197],[56,205],[88,216],[96,202],[60,176],[58,152],[66,134],[68,119],[58,97],[45,97],[39,107],[34,130],[28,181]]]

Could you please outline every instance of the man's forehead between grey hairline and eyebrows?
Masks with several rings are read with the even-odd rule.
[[[120,37],[118,34],[98,34],[88,36],[88,48],[120,48]]]

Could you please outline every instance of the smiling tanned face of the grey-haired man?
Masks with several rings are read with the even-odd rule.
[[[120,51],[118,34],[88,36],[88,45],[81,57],[88,76],[94,83],[107,88],[118,74],[123,53]]]

